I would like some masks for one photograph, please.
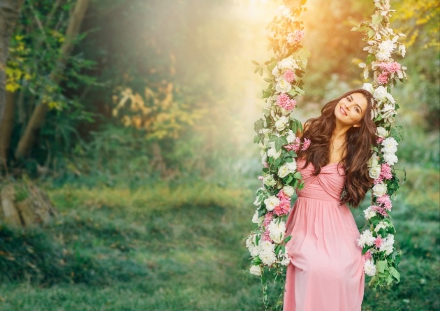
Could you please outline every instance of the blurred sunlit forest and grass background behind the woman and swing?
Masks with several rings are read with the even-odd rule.
[[[279,3],[21,2],[0,124],[0,310],[261,310],[244,247],[266,84],[251,59],[270,58],[265,27]],[[393,208],[401,282],[366,288],[362,310],[439,310],[440,8],[391,6],[407,36],[408,80],[392,92],[404,129]],[[374,4],[307,8],[302,122],[365,82],[365,43],[351,28]],[[50,220],[8,221],[8,189],[17,206],[38,193]],[[353,210],[359,228],[368,201]],[[278,294],[270,286],[270,300]]]

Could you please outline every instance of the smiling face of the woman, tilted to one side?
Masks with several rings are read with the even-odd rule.
[[[344,97],[335,107],[337,122],[343,125],[358,127],[367,111],[368,103],[361,93],[353,93]]]

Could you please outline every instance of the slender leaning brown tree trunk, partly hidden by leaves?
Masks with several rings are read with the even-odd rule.
[[[80,30],[81,22],[84,18],[87,6],[89,6],[89,0],[78,0],[76,2],[75,9],[69,18],[69,24],[66,31],[66,40],[64,41],[63,45],[61,45],[61,51],[56,63],[57,65],[50,74],[50,78],[55,84],[59,84],[61,81],[61,75],[66,67],[68,56],[73,48],[73,40],[76,38],[76,36],[78,36],[78,31]],[[44,101],[38,103],[38,105],[35,107],[23,136],[20,138],[17,150],[15,150],[16,158],[26,157],[29,154],[32,145],[34,145],[36,132],[38,129],[40,129],[41,124],[43,124],[47,111],[47,103]]]

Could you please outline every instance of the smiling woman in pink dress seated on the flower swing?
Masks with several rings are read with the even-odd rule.
[[[305,187],[286,223],[292,238],[284,311],[360,311],[365,259],[346,203],[357,207],[372,185],[373,105],[371,93],[355,89],[305,123],[302,137],[311,145],[298,153]]]

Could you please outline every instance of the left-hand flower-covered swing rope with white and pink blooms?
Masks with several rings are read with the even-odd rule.
[[[275,280],[284,276],[290,262],[287,255],[286,217],[291,211],[291,196],[295,187],[302,188],[301,174],[296,170],[296,152],[306,150],[310,141],[301,141],[295,136],[302,124],[293,117],[296,107],[295,96],[304,94],[304,82],[307,59],[310,55],[307,48],[301,45],[305,36],[302,21],[297,20],[304,10],[306,0],[284,0],[279,6],[278,14],[267,25],[270,29],[269,49],[275,56],[264,64],[252,61],[255,72],[263,75],[267,69],[270,78],[267,89],[263,90],[266,100],[263,115],[255,122],[256,136],[254,143],[261,147],[263,175],[258,178],[263,185],[256,192],[257,206],[252,222],[257,228],[246,240],[251,253],[250,273],[261,275],[263,285],[263,303],[267,310],[267,284],[265,268],[272,270]],[[284,282],[281,282],[284,289]],[[282,301],[281,294],[279,301]]]

